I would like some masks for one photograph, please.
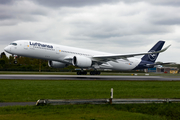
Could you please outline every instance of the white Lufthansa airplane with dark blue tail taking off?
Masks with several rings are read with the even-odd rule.
[[[171,45],[162,49],[165,41],[158,41],[148,52],[132,54],[111,54],[32,40],[17,40],[4,50],[18,56],[48,60],[53,68],[64,68],[68,65],[79,67],[77,75],[86,75],[84,69],[93,69],[90,75],[99,75],[99,69],[137,70],[153,68],[159,53],[166,51]],[[134,56],[143,55],[142,58]],[[167,64],[167,63],[165,63]],[[162,65],[162,64],[161,64]]]

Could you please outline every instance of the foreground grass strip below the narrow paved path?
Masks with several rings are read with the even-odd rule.
[[[177,120],[179,114],[177,103],[0,107],[0,120]]]

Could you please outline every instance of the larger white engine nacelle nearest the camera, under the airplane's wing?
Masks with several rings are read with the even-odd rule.
[[[74,56],[72,60],[72,64],[77,67],[86,68],[86,67],[91,67],[92,60],[84,56]]]

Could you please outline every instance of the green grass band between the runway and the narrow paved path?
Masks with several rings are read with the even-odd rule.
[[[0,102],[38,99],[180,98],[179,81],[0,80]]]

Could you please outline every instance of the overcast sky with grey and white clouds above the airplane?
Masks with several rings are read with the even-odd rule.
[[[180,63],[180,1],[0,0],[0,51],[20,39],[118,54],[164,40],[157,61]]]

